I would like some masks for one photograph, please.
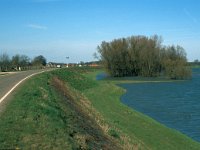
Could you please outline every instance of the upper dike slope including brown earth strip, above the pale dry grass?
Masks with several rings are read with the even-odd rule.
[[[56,78],[68,83],[59,85]],[[0,149],[117,147],[79,104],[79,91],[94,86],[94,81],[70,69],[26,81],[0,116]]]

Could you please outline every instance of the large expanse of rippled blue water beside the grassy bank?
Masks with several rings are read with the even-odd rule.
[[[200,69],[188,81],[120,86],[124,104],[200,141]]]

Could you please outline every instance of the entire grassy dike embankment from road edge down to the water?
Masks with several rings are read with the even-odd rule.
[[[200,144],[120,102],[124,89],[98,70],[37,75],[0,114],[0,149],[200,149]]]

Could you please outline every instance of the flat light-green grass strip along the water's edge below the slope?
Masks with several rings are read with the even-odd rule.
[[[133,143],[142,145],[142,149],[200,149],[200,143],[123,105],[120,97],[125,91],[114,83],[98,81],[98,86],[84,94],[106,121],[128,135]]]

